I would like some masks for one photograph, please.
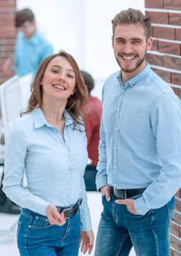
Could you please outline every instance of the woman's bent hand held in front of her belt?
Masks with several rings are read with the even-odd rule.
[[[64,217],[64,214],[60,214],[58,212],[58,208],[53,205],[49,204],[47,206],[46,214],[51,225],[63,226],[66,223],[66,217]]]

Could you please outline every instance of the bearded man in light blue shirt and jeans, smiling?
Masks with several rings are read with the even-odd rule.
[[[174,194],[181,185],[180,99],[145,61],[151,23],[139,10],[112,20],[121,70],[103,89],[96,177],[104,211],[95,256],[169,256]]]

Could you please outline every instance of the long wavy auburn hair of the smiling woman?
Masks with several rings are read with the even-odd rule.
[[[42,86],[40,86],[40,83],[45,74],[47,65],[53,58],[58,56],[66,58],[74,69],[76,85],[74,87],[74,94],[67,99],[66,110],[69,112],[70,116],[72,116],[75,124],[82,124],[82,120],[85,120],[87,115],[88,89],[83,82],[80,69],[74,57],[64,50],[60,50],[58,53],[47,57],[40,64],[31,85],[31,97],[28,101],[28,108],[22,115],[31,113],[35,108],[42,107]]]

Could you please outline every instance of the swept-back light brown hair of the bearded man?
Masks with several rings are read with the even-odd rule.
[[[151,36],[151,19],[140,10],[134,10],[129,8],[128,10],[120,11],[115,18],[112,19],[112,34],[114,36],[115,27],[117,25],[125,25],[125,24],[140,24],[145,29],[146,38],[150,38]]]

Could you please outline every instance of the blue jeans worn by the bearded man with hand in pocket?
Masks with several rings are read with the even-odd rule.
[[[136,195],[137,198],[141,195]],[[101,214],[94,256],[128,256],[131,247],[137,256],[169,256],[169,227],[174,217],[174,197],[165,206],[151,209],[144,216],[134,215],[125,205],[102,197]]]

